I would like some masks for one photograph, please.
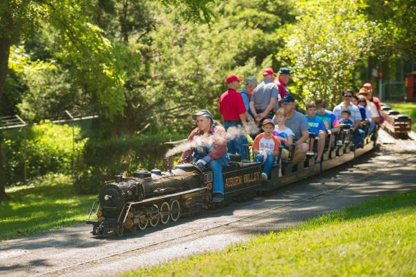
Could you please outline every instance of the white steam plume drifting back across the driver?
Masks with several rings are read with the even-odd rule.
[[[229,142],[230,140],[233,140],[235,137],[240,135],[246,136],[247,134],[254,134],[258,131],[258,126],[249,122],[247,124],[247,129],[245,129],[243,126],[230,127],[227,130],[225,137],[227,142]],[[179,144],[178,146],[175,146],[174,148],[171,148],[169,151],[167,151],[165,157],[173,156],[177,153],[182,153],[188,149],[195,148],[196,146],[205,146],[213,143],[219,144],[221,142],[224,142],[224,138],[220,133],[214,133],[214,135],[196,135],[190,142],[186,141]]]

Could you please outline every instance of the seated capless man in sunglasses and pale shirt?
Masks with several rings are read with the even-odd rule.
[[[361,113],[357,106],[351,104],[351,99],[353,98],[353,91],[351,89],[346,89],[342,93],[342,102],[341,104],[335,106],[333,113],[335,113],[338,120],[342,118],[341,113],[344,110],[349,110],[351,113],[351,122],[353,122],[353,144],[358,148],[364,146],[364,131],[358,129],[358,126],[361,122]]]

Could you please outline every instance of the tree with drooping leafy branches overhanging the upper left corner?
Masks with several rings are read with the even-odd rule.
[[[185,7],[183,13],[192,19],[209,19],[207,5],[211,1],[164,2]],[[56,53],[59,53],[56,57],[72,65],[70,74],[90,98],[90,103],[110,119],[123,110],[125,71],[119,58],[123,54],[123,45],[110,41],[99,27],[90,23],[89,7],[90,1],[86,0],[8,0],[0,3],[0,116],[5,115],[1,106],[8,104],[4,100],[7,99],[5,87],[10,47],[18,45],[25,35],[33,34],[39,22],[47,23],[52,32],[59,34],[60,39],[55,41]],[[128,25],[125,23],[123,27],[125,31]],[[0,141],[3,141],[1,135]],[[7,198],[3,162],[0,150],[0,200]]]

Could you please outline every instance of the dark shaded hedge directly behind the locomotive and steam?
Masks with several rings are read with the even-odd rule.
[[[185,137],[187,135],[162,133],[89,140],[77,160],[76,191],[98,192],[104,181],[114,179],[118,173],[132,174],[138,168],[160,167],[170,148],[165,142]]]

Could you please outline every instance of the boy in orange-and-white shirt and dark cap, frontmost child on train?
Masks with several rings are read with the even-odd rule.
[[[254,139],[253,153],[256,155],[254,160],[262,163],[262,179],[266,181],[275,157],[279,154],[279,141],[271,134],[274,130],[273,120],[269,118],[263,120],[262,129],[264,133],[258,134]]]

